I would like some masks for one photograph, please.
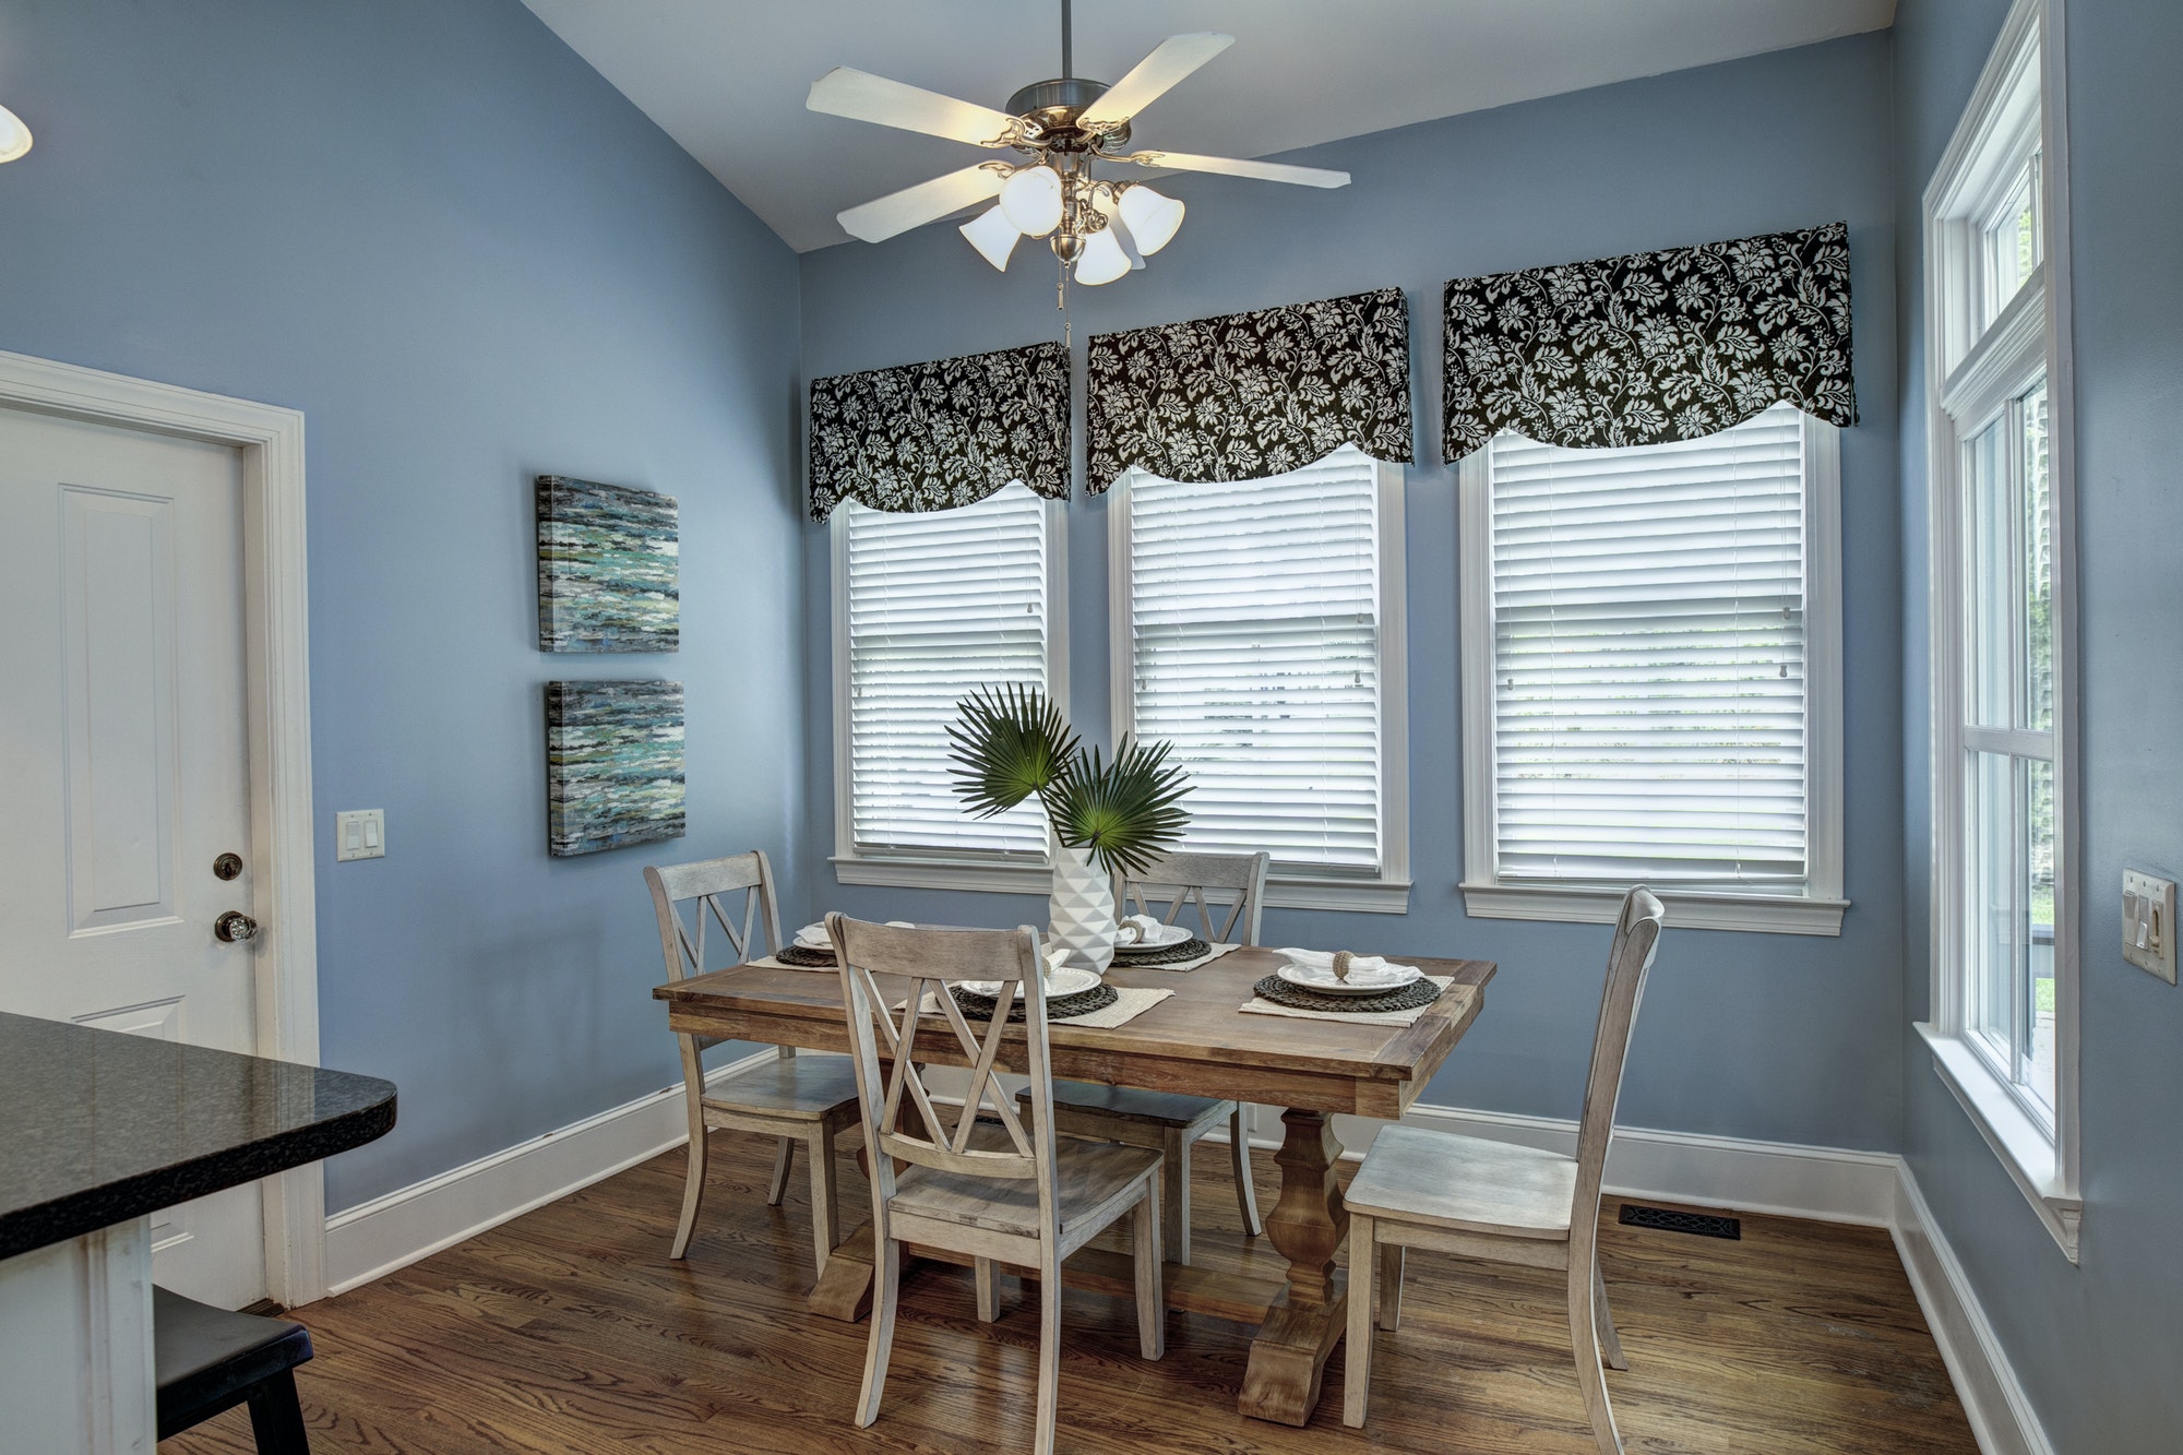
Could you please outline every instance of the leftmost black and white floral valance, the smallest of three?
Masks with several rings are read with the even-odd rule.
[[[843,500],[878,511],[976,505],[1009,481],[1070,494],[1070,354],[998,354],[812,380],[812,520]]]

